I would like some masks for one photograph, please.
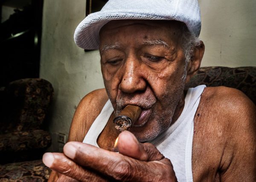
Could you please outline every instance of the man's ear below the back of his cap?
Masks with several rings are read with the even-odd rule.
[[[200,40],[200,44],[195,46],[192,57],[187,65],[186,83],[196,74],[200,68],[202,58],[204,56],[204,43]]]

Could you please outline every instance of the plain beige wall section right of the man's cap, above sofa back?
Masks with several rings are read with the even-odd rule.
[[[202,66],[256,66],[256,0],[198,0]]]

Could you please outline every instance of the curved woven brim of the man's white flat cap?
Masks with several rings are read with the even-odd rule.
[[[74,34],[74,40],[77,46],[87,49],[87,50],[96,50],[99,49],[99,31],[100,29],[111,20],[177,20],[186,23],[189,30],[195,32],[195,30],[191,30],[189,24],[189,20],[184,20],[182,15],[170,16],[170,14],[165,15],[155,15],[151,14],[143,14],[142,12],[122,12],[120,13],[116,11],[105,11],[105,12],[96,12],[89,14],[84,20],[79,23],[76,28]],[[196,25],[199,27],[196,30],[195,36],[199,36],[201,30],[201,22]]]

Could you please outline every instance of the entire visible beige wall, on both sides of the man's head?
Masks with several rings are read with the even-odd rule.
[[[206,45],[203,66],[256,66],[256,1],[199,0],[201,39]],[[85,0],[44,0],[40,77],[55,90],[49,131],[58,151],[57,133],[68,135],[75,109],[85,94],[102,88],[98,51],[84,52],[73,33],[85,16]]]

